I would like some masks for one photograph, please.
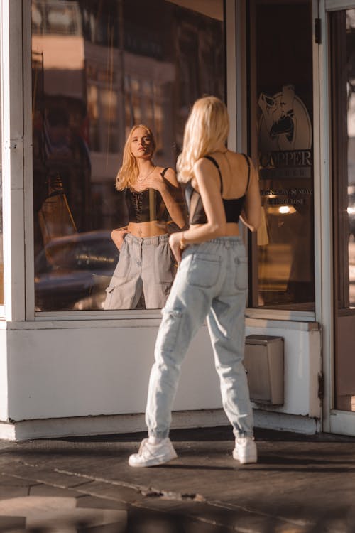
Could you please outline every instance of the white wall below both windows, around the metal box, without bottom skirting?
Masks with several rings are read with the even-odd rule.
[[[9,417],[23,421],[143,413],[159,321],[146,322],[134,327],[130,321],[114,320],[13,324],[7,331]],[[247,334],[285,338],[285,404],[268,409],[320,417],[320,332],[308,331],[307,323],[247,323]],[[204,326],[182,367],[174,409],[221,407]]]

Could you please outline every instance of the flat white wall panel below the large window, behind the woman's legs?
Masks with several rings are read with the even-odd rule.
[[[9,331],[11,419],[144,411],[157,326],[80,326]],[[190,349],[176,409],[221,404],[206,333],[202,328]]]

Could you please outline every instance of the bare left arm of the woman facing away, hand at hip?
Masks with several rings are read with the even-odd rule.
[[[170,235],[169,243],[175,259],[181,260],[180,241],[183,237],[184,244],[205,242],[215,237],[226,235],[226,215],[220,192],[219,178],[216,168],[208,159],[202,158],[195,163],[194,174],[197,188],[201,195],[207,223],[192,225],[184,232]]]

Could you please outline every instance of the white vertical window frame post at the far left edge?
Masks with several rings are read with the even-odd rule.
[[[22,1],[1,1],[4,318],[25,320]],[[19,216],[20,215],[20,216]]]

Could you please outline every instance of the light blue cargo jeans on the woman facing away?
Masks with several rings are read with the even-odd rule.
[[[150,436],[169,434],[182,360],[206,317],[224,411],[236,437],[253,435],[243,365],[247,284],[248,263],[241,237],[220,237],[183,252],[155,343],[146,407]]]

